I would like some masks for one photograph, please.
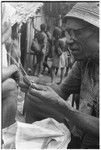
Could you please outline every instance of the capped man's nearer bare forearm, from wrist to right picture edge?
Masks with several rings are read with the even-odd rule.
[[[99,136],[99,119],[80,111],[74,110],[73,108],[67,106],[67,108],[62,109],[65,118],[69,119],[75,126],[84,131],[85,133],[92,134],[96,137]]]

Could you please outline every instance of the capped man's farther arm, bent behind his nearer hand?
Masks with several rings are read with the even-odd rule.
[[[71,71],[69,72],[66,79],[59,86],[52,84],[51,87],[54,91],[67,100],[68,96],[72,93],[79,93],[81,86],[81,64],[75,62]]]

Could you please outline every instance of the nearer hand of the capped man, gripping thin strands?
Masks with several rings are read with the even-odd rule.
[[[64,109],[66,102],[49,86],[32,84],[28,90],[27,98],[34,107],[40,110],[45,117],[52,117],[64,122]],[[33,108],[34,109],[34,108]]]

